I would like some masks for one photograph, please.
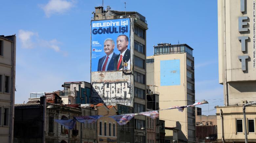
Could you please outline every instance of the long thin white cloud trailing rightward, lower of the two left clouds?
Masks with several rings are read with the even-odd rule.
[[[21,42],[22,48],[34,48],[34,47],[43,47],[51,48],[55,52],[62,52],[64,56],[67,56],[67,52],[60,50],[59,44],[61,42],[56,39],[53,40],[43,40],[39,38],[39,35],[36,32],[19,30],[18,39]]]

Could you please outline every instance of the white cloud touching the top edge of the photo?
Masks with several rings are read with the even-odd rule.
[[[73,7],[73,2],[68,2],[66,0],[50,0],[42,9],[47,17],[52,14],[63,14]]]

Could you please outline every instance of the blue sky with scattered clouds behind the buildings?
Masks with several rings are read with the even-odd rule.
[[[160,42],[186,43],[194,48],[196,100],[204,115],[223,105],[218,83],[217,1],[105,0],[104,8],[137,11],[146,17],[147,56]],[[146,4],[146,5],[145,5]],[[90,81],[90,21],[101,0],[2,1],[0,35],[16,34],[15,103],[30,92],[62,90],[63,82]],[[219,100],[216,100],[219,99]]]

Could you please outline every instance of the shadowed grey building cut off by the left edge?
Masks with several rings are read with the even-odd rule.
[[[13,142],[16,36],[0,35],[0,140]]]

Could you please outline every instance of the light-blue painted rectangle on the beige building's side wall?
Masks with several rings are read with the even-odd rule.
[[[174,86],[181,84],[180,60],[160,61],[160,85]]]

